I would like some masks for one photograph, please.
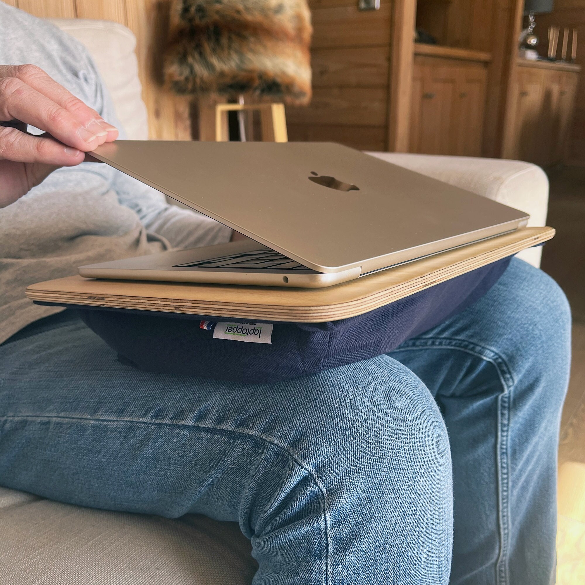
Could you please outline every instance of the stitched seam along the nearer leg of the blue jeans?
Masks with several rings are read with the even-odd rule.
[[[260,439],[260,441],[264,441],[266,443],[270,443],[284,451],[301,469],[305,470],[309,474],[309,477],[315,483],[315,486],[318,488],[319,493],[321,494],[321,499],[323,501],[323,521],[324,521],[324,532],[325,532],[325,585],[329,584],[330,577],[331,577],[331,567],[330,567],[330,547],[331,542],[329,541],[329,516],[328,516],[328,498],[326,495],[325,486],[322,486],[321,482],[318,480],[318,477],[313,469],[309,467],[307,464],[302,463],[287,446],[281,445],[276,441],[276,439],[262,435],[261,433],[253,433],[249,431],[245,431],[243,429],[232,429],[226,426],[221,425],[201,425],[201,424],[188,424],[184,422],[160,422],[160,421],[141,421],[139,419],[132,419],[132,418],[91,418],[91,417],[64,417],[64,416],[46,416],[46,415],[4,415],[0,416],[0,420],[8,420],[8,419],[47,419],[47,420],[71,420],[71,421],[95,421],[95,422],[132,422],[134,424],[142,424],[142,425],[164,425],[164,426],[177,426],[177,427],[187,427],[187,428],[198,428],[204,429],[205,431],[222,431],[228,433],[236,433],[240,435],[252,436],[256,439]]]

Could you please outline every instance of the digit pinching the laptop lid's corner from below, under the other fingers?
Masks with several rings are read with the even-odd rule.
[[[72,167],[84,160],[84,152],[50,138],[30,136],[16,128],[0,126],[0,160]]]

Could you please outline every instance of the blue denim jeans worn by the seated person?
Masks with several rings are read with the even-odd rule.
[[[521,260],[390,355],[266,386],[131,369],[64,315],[0,346],[0,484],[239,522],[256,585],[548,584],[569,338]]]

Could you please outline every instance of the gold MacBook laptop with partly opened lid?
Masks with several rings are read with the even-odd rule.
[[[90,278],[326,287],[528,221],[340,144],[118,140],[92,155],[250,239],[81,266]]]

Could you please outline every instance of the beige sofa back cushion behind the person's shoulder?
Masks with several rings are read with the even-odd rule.
[[[130,140],[148,138],[148,116],[138,78],[136,37],[117,22],[82,18],[49,19],[90,51]]]

